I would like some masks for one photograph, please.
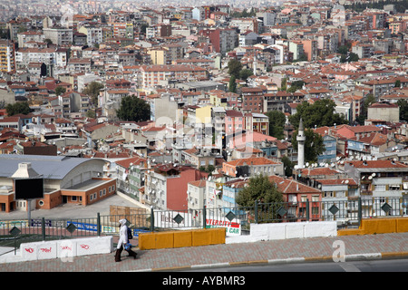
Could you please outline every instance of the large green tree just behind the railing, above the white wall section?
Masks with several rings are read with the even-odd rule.
[[[238,192],[236,202],[242,207],[253,207],[256,200],[263,203],[278,203],[282,202],[283,198],[274,182],[266,175],[258,175],[250,178],[248,187]]]

